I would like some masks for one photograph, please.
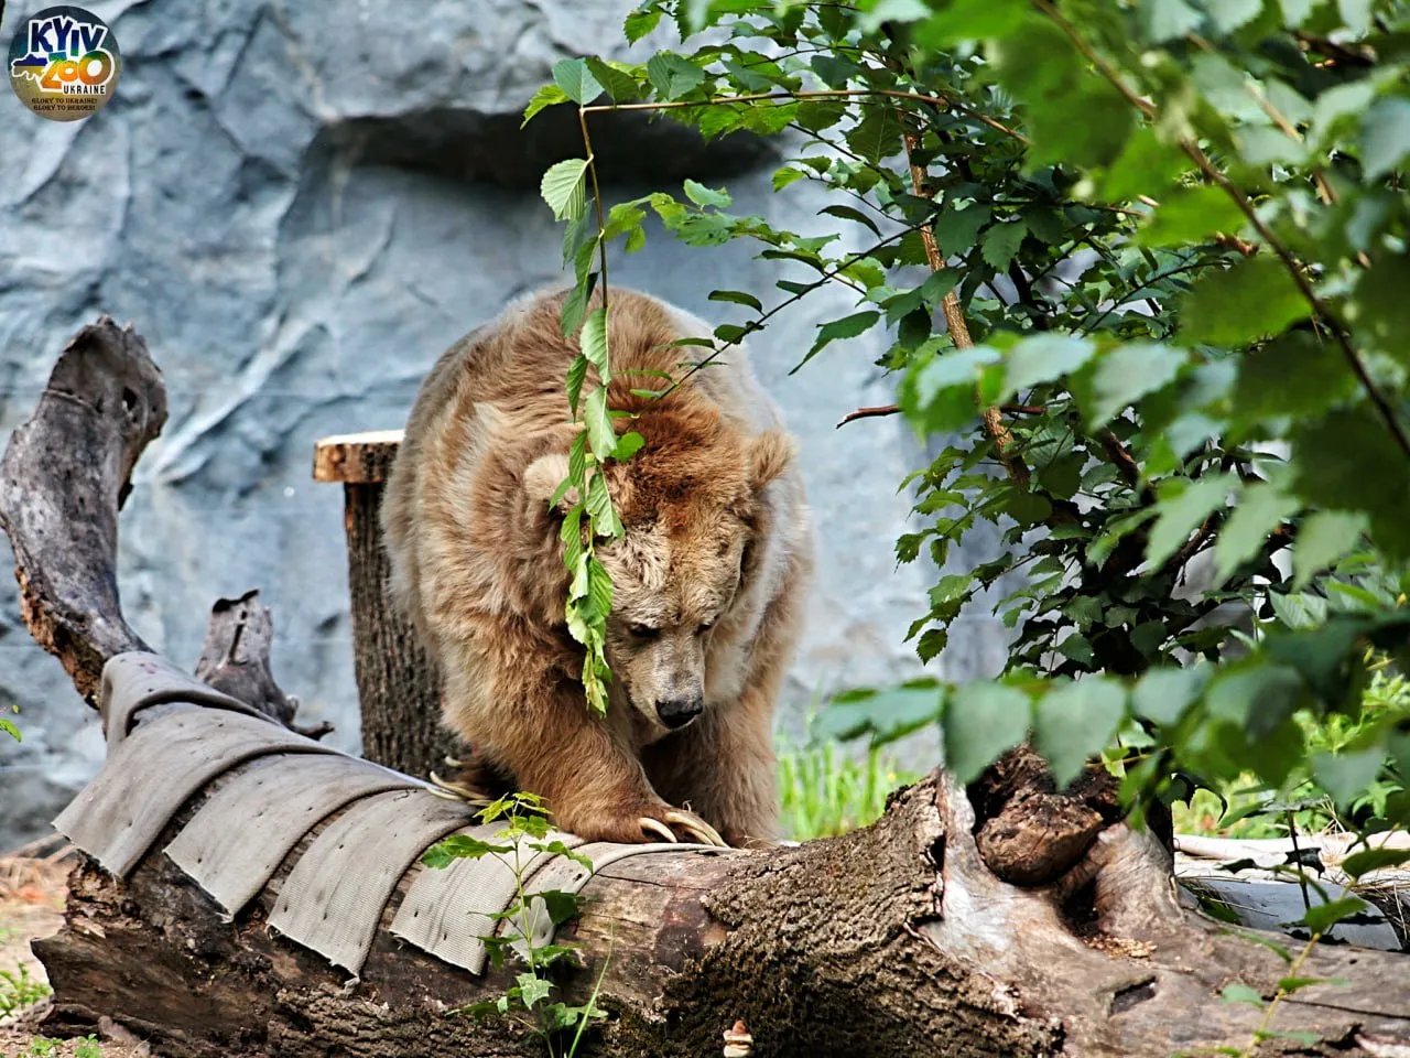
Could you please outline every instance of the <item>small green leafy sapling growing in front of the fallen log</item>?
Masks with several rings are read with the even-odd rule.
[[[592,1021],[606,1017],[596,1006],[602,978],[598,976],[598,987],[582,1006],[570,1006],[561,1000],[550,1002],[557,987],[551,978],[553,968],[572,962],[577,949],[565,944],[537,944],[534,927],[546,920],[556,927],[568,921],[578,913],[578,899],[572,893],[557,890],[530,896],[525,892],[525,873],[529,861],[539,853],[567,856],[588,870],[592,869],[592,861],[553,837],[548,808],[537,794],[515,793],[501,797],[481,810],[479,821],[503,825],[494,841],[453,834],[431,845],[422,855],[422,862],[429,868],[443,869],[457,859],[494,856],[512,872],[513,901],[502,911],[489,916],[495,923],[506,924],[506,935],[488,935],[479,940],[496,969],[502,968],[508,958],[517,959],[525,969],[515,975],[515,983],[496,999],[474,1003],[458,1013],[477,1019],[508,1017],[540,1035],[550,1058],[556,1055],[571,1058],[578,1051],[585,1028]],[[602,972],[606,972],[606,965]]]

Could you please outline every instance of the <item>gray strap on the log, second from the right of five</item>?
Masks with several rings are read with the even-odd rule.
[[[471,810],[423,790],[358,801],[329,824],[285,879],[269,925],[354,975],[382,911],[429,845],[471,822]]]

